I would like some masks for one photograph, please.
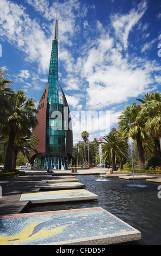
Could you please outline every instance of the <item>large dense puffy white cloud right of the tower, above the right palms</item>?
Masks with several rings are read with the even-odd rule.
[[[108,107],[115,103],[126,102],[129,97],[142,94],[152,82],[151,76],[147,75],[144,70],[123,70],[110,66],[102,70],[100,74],[96,72],[89,77],[90,86],[87,93],[90,100],[86,105],[92,109],[100,109],[103,106]]]

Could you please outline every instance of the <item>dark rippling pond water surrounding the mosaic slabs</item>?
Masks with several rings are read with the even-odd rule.
[[[98,195],[97,200],[33,204],[23,212],[40,212],[89,208],[101,206],[103,209],[119,217],[141,232],[139,245],[161,245],[161,199],[157,190],[159,183],[146,180],[105,178],[99,181],[98,175],[77,175],[77,179],[85,184],[85,189]],[[104,178],[102,178],[104,179]],[[139,186],[138,186],[139,185]]]

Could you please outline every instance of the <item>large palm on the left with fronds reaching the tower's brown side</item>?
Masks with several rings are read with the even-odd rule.
[[[10,105],[11,109],[6,109],[4,123],[0,123],[1,134],[9,136],[3,172],[8,172],[12,168],[15,136],[30,136],[31,129],[38,124],[35,117],[38,113],[35,100],[27,100],[23,90],[18,90],[14,97],[10,98]]]

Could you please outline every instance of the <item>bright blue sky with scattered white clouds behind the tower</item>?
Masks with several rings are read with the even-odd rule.
[[[0,65],[14,89],[26,90],[37,105],[47,86],[56,13],[59,83],[73,119],[110,111],[109,129],[137,97],[160,92],[160,1],[1,0],[0,10]],[[73,121],[74,143],[83,130],[90,140],[103,135],[99,113],[95,131]]]

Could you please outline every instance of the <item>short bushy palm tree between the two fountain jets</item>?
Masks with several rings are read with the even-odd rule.
[[[128,154],[127,143],[124,139],[117,137],[116,131],[110,131],[103,139],[104,142],[100,142],[102,144],[103,160],[111,160],[112,168],[116,170],[115,158],[126,159]]]

